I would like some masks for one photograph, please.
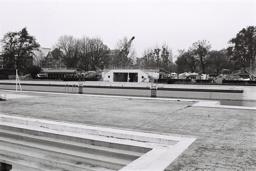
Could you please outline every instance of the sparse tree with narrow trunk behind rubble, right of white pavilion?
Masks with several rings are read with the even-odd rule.
[[[198,40],[192,44],[189,48],[194,53],[195,57],[200,61],[200,66],[203,73],[205,73],[205,67],[209,63],[211,44],[206,40]]]

